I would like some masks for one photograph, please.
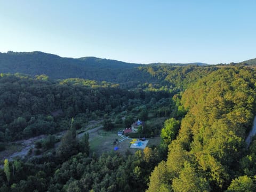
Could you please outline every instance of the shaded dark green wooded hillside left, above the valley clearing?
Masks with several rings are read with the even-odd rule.
[[[154,104],[172,94],[164,90],[128,91],[117,84],[85,79],[52,81],[45,75],[1,74],[0,142],[66,130],[71,117],[77,116],[79,127],[110,112],[118,114],[146,104],[153,110]],[[155,106],[159,113],[162,106]],[[165,110],[170,114],[170,109]]]

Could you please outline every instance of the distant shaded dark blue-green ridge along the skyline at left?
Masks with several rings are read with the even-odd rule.
[[[0,52],[0,73],[22,73],[33,76],[45,74],[53,79],[77,77],[109,82],[141,81],[141,79],[144,79],[146,82],[151,77],[138,70],[138,67],[187,65],[202,66],[206,64],[151,63],[143,65],[96,57],[63,58],[55,54],[39,51]]]

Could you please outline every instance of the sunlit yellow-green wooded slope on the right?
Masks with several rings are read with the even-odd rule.
[[[147,191],[254,191],[255,150],[245,145],[254,98],[255,71],[249,68],[219,69],[188,87],[181,98],[187,114]]]

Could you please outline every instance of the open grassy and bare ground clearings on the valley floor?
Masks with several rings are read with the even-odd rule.
[[[84,130],[78,130],[77,139],[81,139],[85,133],[89,133],[89,142],[90,142],[90,148],[91,151],[101,155],[102,153],[105,153],[107,151],[114,150],[114,147],[118,147],[118,152],[121,154],[125,154],[127,150],[130,151],[130,153],[134,154],[135,151],[138,149],[130,148],[131,146],[131,140],[125,139],[122,142],[117,142],[116,145],[114,145],[114,141],[116,139],[118,141],[122,140],[123,138],[121,136],[117,135],[117,130],[119,128],[113,129],[112,131],[105,131],[102,129],[102,121],[91,121],[86,126]],[[80,133],[79,133],[80,132]],[[65,134],[66,131],[62,131],[55,134],[55,137],[61,138],[63,134]],[[0,167],[3,167],[4,159],[9,159],[9,161],[13,161],[15,158],[25,158],[29,150],[31,149],[34,151],[35,149],[35,143],[39,140],[45,139],[47,135],[39,135],[37,137],[19,140],[15,142],[10,142],[10,145],[6,147],[6,150],[0,152]],[[148,145],[150,146],[158,146],[161,142],[160,137],[155,137],[149,140]],[[57,148],[59,146],[60,142],[55,143],[54,148]],[[46,152],[46,151],[45,151]]]

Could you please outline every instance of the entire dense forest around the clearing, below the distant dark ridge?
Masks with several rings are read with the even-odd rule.
[[[151,65],[120,70],[119,80],[111,73],[106,79],[57,80],[1,74],[2,150],[16,140],[49,136],[37,143],[38,151],[45,148],[41,155],[2,159],[0,191],[256,190],[256,140],[249,147],[245,143],[256,107],[253,68]],[[127,127],[135,119],[164,119],[139,133],[160,135],[161,144],[135,154],[96,154],[90,134],[77,137],[92,119],[100,119],[106,130]],[[54,147],[53,134],[63,130]]]

